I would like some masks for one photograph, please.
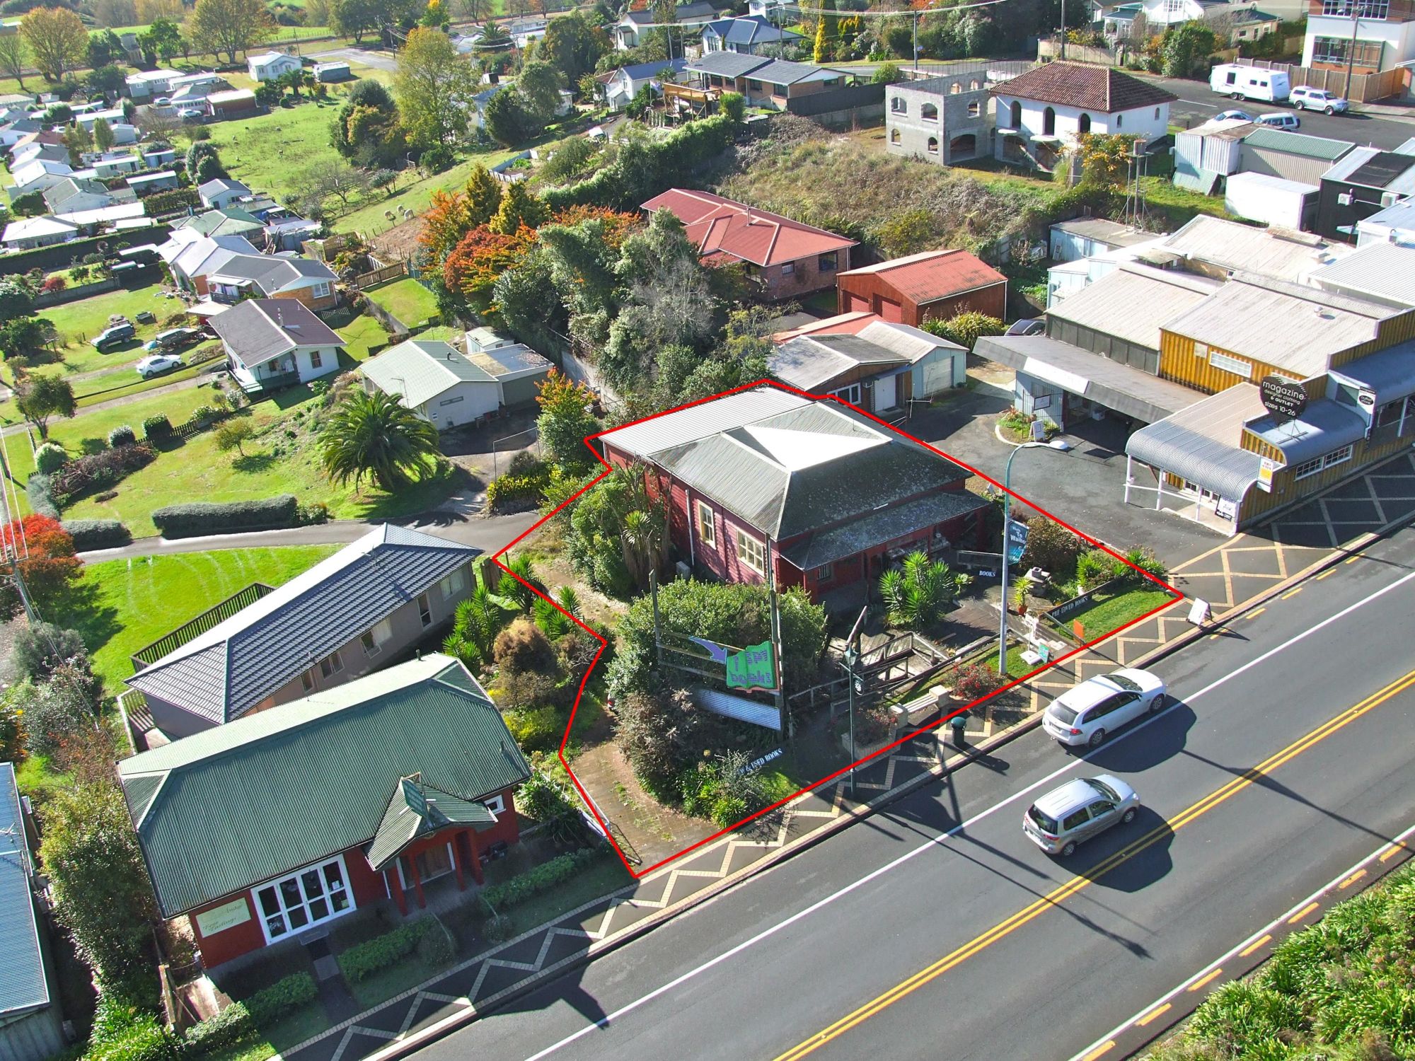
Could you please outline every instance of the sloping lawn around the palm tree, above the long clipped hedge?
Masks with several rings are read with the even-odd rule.
[[[180,393],[207,395],[202,388]],[[146,538],[157,533],[151,514],[164,505],[194,498],[245,501],[294,494],[304,502],[324,502],[335,519],[392,518],[433,508],[458,481],[460,472],[443,464],[436,475],[396,495],[368,484],[355,491],[352,484],[330,482],[320,467],[318,440],[306,429],[318,400],[299,388],[255,405],[245,416],[252,417],[258,436],[245,444],[245,456],[221,453],[215,431],[204,431],[129,475],[110,501],[83,498],[64,515],[67,519],[120,519],[134,538]],[[192,407],[201,403],[198,399]],[[170,419],[178,422],[175,416]],[[140,419],[130,423],[140,423]]]

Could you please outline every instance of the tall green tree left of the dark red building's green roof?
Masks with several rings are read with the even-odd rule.
[[[150,1003],[154,904],[122,791],[98,774],[55,791],[40,819],[40,862],[54,888],[55,917],[102,993]]]

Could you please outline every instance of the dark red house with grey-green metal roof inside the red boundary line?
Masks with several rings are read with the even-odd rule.
[[[668,495],[679,559],[724,581],[824,594],[914,549],[974,547],[989,504],[968,470],[836,402],[761,386],[601,436]]]

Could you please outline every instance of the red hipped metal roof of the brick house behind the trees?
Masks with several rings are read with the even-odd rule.
[[[855,246],[853,239],[708,191],[669,188],[644,204],[649,212],[659,208],[671,209],[683,222],[688,238],[706,260],[736,259],[773,266]]]

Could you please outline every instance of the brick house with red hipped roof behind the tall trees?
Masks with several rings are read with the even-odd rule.
[[[768,300],[795,298],[835,286],[850,267],[856,240],[768,214],[708,191],[669,188],[644,204],[669,209],[688,229],[706,265],[744,263]]]

